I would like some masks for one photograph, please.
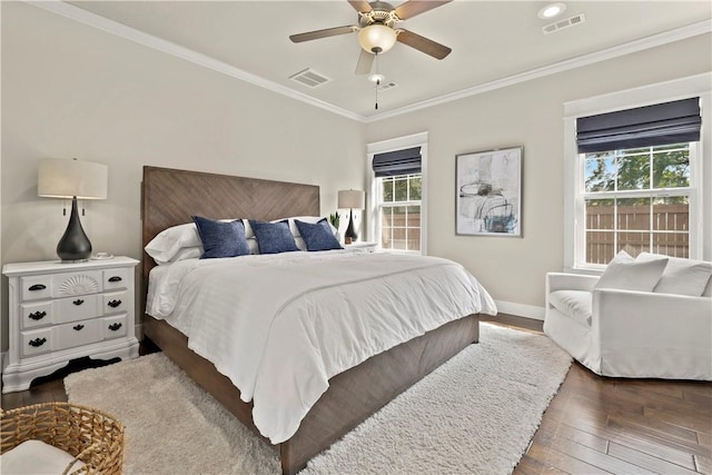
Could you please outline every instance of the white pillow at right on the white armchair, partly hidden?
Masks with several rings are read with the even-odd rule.
[[[635,260],[659,259],[661,255],[641,253]],[[670,257],[660,281],[653,289],[655,294],[676,294],[700,297],[712,277],[712,263],[703,260]]]

